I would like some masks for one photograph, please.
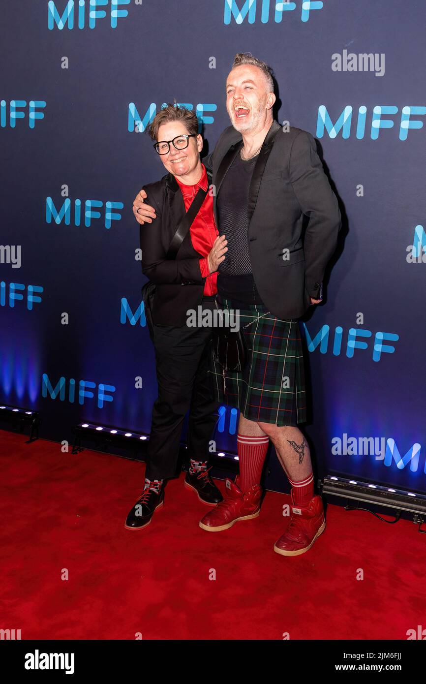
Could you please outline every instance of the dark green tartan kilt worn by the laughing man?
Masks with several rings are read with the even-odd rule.
[[[239,311],[239,327],[248,345],[248,364],[226,371],[211,355],[209,373],[217,402],[238,408],[249,421],[297,425],[306,422],[306,386],[302,337],[297,319],[284,321],[255,304],[237,305],[217,297],[223,311]],[[252,322],[254,321],[254,322]],[[288,378],[288,379],[287,379]],[[225,390],[224,390],[225,380]]]

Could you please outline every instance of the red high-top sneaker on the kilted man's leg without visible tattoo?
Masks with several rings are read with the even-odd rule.
[[[220,501],[213,510],[200,520],[200,527],[209,532],[220,532],[232,527],[237,520],[257,518],[261,512],[262,488],[255,484],[243,495],[239,488],[239,477],[226,480],[224,501]]]

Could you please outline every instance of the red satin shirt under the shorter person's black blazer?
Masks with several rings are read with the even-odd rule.
[[[191,202],[194,200],[198,189],[201,187],[203,190],[207,190],[207,187],[209,186],[206,167],[204,164],[201,166],[202,175],[196,185],[184,185],[184,183],[181,183],[175,176],[176,181],[181,188],[186,211],[188,211],[191,206]],[[217,271],[215,273],[210,273],[207,255],[211,251],[213,242],[219,235],[219,231],[215,224],[215,217],[213,215],[213,196],[211,196],[210,192],[208,192],[207,196],[204,198],[200,211],[198,211],[194,223],[191,228],[189,228],[189,234],[194,250],[196,250],[198,254],[202,254],[203,257],[200,259],[200,271],[202,278],[206,278],[206,281],[204,282],[204,295],[215,295],[217,293],[218,274]]]

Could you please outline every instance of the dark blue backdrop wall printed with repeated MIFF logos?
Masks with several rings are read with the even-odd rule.
[[[131,207],[164,170],[144,131],[176,98],[212,150],[250,51],[343,212],[325,302],[301,321],[318,474],[425,492],[425,23],[423,0],[3,0],[0,402],[40,410],[58,441],[82,420],[149,431]],[[217,451],[236,451],[236,418],[223,409]],[[286,487],[275,453],[268,486]]]

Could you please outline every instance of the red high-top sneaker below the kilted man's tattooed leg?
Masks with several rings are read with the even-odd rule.
[[[278,542],[274,551],[282,555],[299,555],[310,549],[316,538],[325,529],[323,500],[319,496],[310,499],[307,506],[295,505],[291,490],[291,518],[289,527]]]

